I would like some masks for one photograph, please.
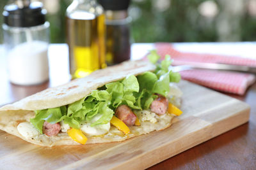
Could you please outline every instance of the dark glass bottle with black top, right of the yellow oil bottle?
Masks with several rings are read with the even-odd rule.
[[[108,65],[130,59],[130,0],[99,0],[106,15],[106,61]]]

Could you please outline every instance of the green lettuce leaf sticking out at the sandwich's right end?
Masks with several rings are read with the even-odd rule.
[[[157,62],[160,56],[156,50],[150,51],[148,60],[156,65],[154,72],[145,72],[139,76],[138,82],[140,85],[140,92],[135,94],[136,103],[142,109],[148,109],[152,101],[156,99],[156,94],[161,94],[166,97],[170,91],[170,82],[179,82],[180,74],[173,73],[169,68],[172,64],[170,55],[166,55],[165,59],[160,63]]]

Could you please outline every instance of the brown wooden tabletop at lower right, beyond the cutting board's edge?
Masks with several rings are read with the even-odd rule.
[[[250,119],[231,131],[156,164],[157,169],[255,169],[256,83],[244,96],[227,94],[250,105]]]

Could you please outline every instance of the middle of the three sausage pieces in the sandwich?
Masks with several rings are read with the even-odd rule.
[[[122,120],[127,126],[132,126],[135,124],[136,116],[134,115],[132,110],[126,105],[121,105],[116,108],[116,116],[120,120]]]

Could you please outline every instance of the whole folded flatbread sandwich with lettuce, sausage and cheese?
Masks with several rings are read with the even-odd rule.
[[[127,61],[0,108],[0,129],[42,146],[109,143],[172,124],[182,92],[172,60]]]

